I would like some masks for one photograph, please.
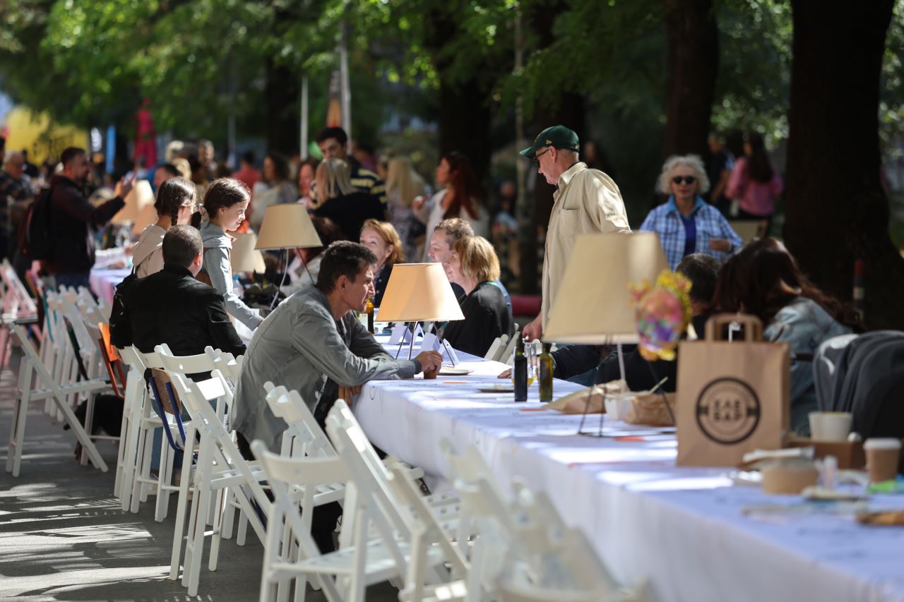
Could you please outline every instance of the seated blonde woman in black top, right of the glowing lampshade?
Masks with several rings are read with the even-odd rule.
[[[493,284],[499,279],[499,259],[487,240],[466,236],[455,243],[443,264],[450,282],[465,289],[458,299],[464,320],[449,322],[443,333],[458,351],[483,357],[496,337],[512,333],[505,297]]]

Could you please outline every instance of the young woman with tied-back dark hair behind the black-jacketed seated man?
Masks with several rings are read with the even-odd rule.
[[[132,262],[139,278],[164,268],[164,236],[172,226],[184,226],[192,220],[197,192],[184,178],[169,178],[157,188],[154,209],[156,223],[148,226],[132,248]]]

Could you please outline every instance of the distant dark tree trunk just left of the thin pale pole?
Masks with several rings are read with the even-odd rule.
[[[272,60],[265,66],[264,102],[267,115],[267,152],[291,155],[298,147],[298,78]]]

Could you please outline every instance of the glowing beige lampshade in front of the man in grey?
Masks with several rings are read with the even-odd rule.
[[[461,307],[439,263],[392,266],[380,304],[381,322],[464,320]]]

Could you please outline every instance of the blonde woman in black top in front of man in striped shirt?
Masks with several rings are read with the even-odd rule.
[[[352,185],[351,170],[342,159],[324,159],[315,174],[314,214],[332,220],[346,240],[358,240],[364,221],[382,220],[380,199]]]

